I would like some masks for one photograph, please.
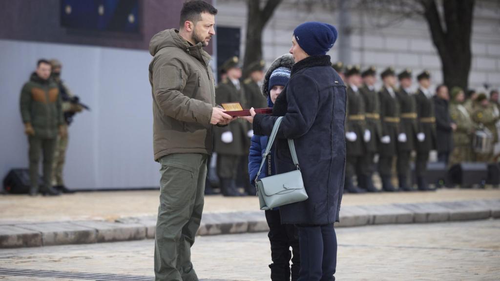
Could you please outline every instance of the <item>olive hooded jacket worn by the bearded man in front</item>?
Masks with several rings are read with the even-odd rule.
[[[190,45],[176,29],[155,34],[149,53],[154,159],[172,153],[210,154],[215,106],[210,55],[201,43]]]

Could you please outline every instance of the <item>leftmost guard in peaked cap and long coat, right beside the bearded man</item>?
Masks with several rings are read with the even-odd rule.
[[[241,91],[239,78],[241,67],[236,56],[222,64],[227,78],[215,89],[215,102],[239,102],[246,107],[246,98]],[[224,196],[240,196],[236,187],[236,177],[241,158],[247,153],[249,125],[242,119],[229,123],[226,127],[215,128],[214,150],[217,152],[217,174],[220,178],[220,189]],[[249,182],[249,180],[248,180]]]

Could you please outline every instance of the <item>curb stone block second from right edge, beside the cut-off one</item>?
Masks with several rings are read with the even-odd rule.
[[[473,201],[436,202],[436,204],[449,209],[449,220],[485,219],[491,216],[491,210],[481,207]]]

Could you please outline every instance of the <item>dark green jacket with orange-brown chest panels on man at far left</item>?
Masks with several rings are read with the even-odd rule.
[[[31,123],[35,136],[54,138],[64,124],[57,84],[32,73],[21,89],[20,110],[23,123]]]

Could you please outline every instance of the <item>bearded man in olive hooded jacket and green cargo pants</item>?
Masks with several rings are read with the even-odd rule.
[[[212,125],[231,120],[215,107],[210,56],[202,49],[215,34],[216,13],[204,1],[185,2],[179,30],[160,31],[149,42],[154,160],[161,164],[155,280],[198,280],[190,247],[203,210]]]

